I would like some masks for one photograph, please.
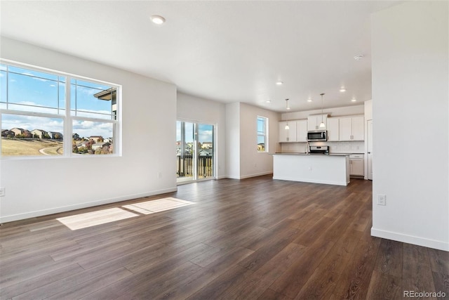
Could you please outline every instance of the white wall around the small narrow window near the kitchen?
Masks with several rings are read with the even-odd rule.
[[[267,117],[269,152],[257,152],[257,116]],[[279,114],[240,103],[240,178],[271,174],[278,141]]]

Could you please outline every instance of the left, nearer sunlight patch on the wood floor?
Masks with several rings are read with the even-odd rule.
[[[91,226],[97,226],[100,224],[110,223],[114,221],[119,221],[123,219],[133,218],[134,216],[139,216],[130,211],[126,211],[119,207],[114,207],[112,209],[102,209],[99,211],[91,211],[85,214],[76,214],[74,216],[65,216],[63,218],[58,218],[56,220],[60,221],[62,224],[67,226],[72,230],[77,230],[81,228],[87,228]]]

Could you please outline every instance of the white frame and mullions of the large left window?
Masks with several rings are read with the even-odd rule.
[[[27,69],[35,72],[44,72],[47,74],[52,74],[59,77],[65,77],[65,113],[59,113],[59,104],[58,104],[58,113],[52,114],[48,112],[31,112],[26,110],[10,110],[8,109],[8,103],[6,103],[6,108],[0,107],[0,125],[1,125],[1,116],[5,115],[22,115],[22,116],[30,116],[30,117],[49,117],[49,118],[58,118],[63,121],[63,133],[62,133],[62,155],[18,155],[18,156],[3,156],[1,154],[0,147],[0,159],[1,160],[13,160],[13,159],[64,159],[64,158],[86,158],[86,157],[121,157],[121,134],[122,134],[122,114],[121,114],[121,96],[122,96],[122,86],[120,84],[114,84],[109,81],[102,81],[98,79],[92,79],[90,77],[83,77],[80,75],[62,72],[58,70],[48,69],[46,67],[38,67],[35,65],[29,65],[27,63],[20,63],[14,60],[8,60],[4,58],[0,58],[0,64],[2,65],[11,65],[12,67],[20,67],[23,69]],[[72,79],[78,79],[82,81],[88,81],[91,84],[101,84],[111,86],[116,89],[116,115],[114,115],[115,119],[102,119],[95,117],[81,117],[72,115],[71,108],[71,87],[72,87]],[[8,78],[6,79],[8,80]],[[8,81],[7,81],[8,84]],[[7,88],[8,89],[8,85]],[[8,95],[8,92],[6,92]],[[59,99],[58,99],[59,101]],[[25,105],[24,105],[25,106]],[[32,106],[32,105],[29,105]],[[73,121],[81,120],[81,121],[91,121],[91,122],[102,122],[102,123],[111,123],[112,124],[112,135],[114,138],[114,142],[112,143],[113,152],[112,154],[107,155],[79,155],[77,153],[72,152],[72,135],[73,135]],[[1,145],[1,140],[0,140]]]

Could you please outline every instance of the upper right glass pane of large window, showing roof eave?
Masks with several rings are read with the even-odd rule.
[[[115,119],[116,88],[78,79],[70,83],[72,115]]]

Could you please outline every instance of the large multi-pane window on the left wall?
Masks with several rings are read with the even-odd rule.
[[[1,157],[116,155],[119,86],[0,64]]]

